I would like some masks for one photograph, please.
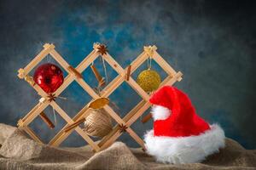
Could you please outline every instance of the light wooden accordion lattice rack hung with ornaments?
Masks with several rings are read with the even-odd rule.
[[[123,69],[118,62],[113,59],[113,57],[107,53],[102,54],[96,45],[102,44],[95,44],[94,49],[91,51],[90,54],[76,67],[69,65],[65,59],[61,57],[55,50],[55,46],[53,44],[46,43],[44,44],[44,49],[34,58],[32,61],[26,65],[24,69],[20,69],[18,72],[18,77],[21,79],[26,80],[32,88],[34,88],[38,95],[42,98],[39,100],[38,105],[35,105],[32,108],[32,111],[28,112],[26,116],[18,122],[18,127],[20,130],[25,131],[28,133],[32,139],[42,143],[42,140],[39,139],[38,135],[32,131],[32,128],[28,127],[28,125],[37,117],[42,115],[44,109],[51,105],[54,110],[67,122],[67,124],[62,127],[60,132],[58,132],[53,139],[49,141],[50,145],[58,146],[61,144],[67,137],[75,130],[79,135],[92,147],[95,151],[100,151],[108,148],[109,145],[113,144],[113,142],[119,138],[119,136],[126,132],[131,135],[131,138],[135,139],[137,144],[141,145],[144,149],[143,139],[141,139],[134,130],[131,129],[131,124],[136,122],[137,119],[143,115],[144,111],[147,111],[150,107],[150,103],[148,102],[149,94],[147,94],[143,88],[141,88],[137,82],[130,77],[130,75],[137,70],[137,68],[143,64],[143,62],[148,59],[154,59],[160,67],[166,71],[167,77],[160,83],[160,87],[163,85],[172,85],[175,82],[179,82],[182,80],[182,73],[180,71],[175,71],[172,69],[172,66],[169,65],[165,59],[163,59],[160,54],[156,52],[155,46],[148,46],[144,47],[143,53],[139,54],[137,59],[135,59],[131,65],[128,65],[125,69]],[[79,83],[79,85],[84,88],[84,90],[92,97],[92,99],[98,99],[100,97],[108,98],[110,94],[113,93],[115,89],[117,89],[122,82],[127,82],[131,88],[133,88],[138,95],[142,97],[142,101],[140,101],[130,112],[128,112],[124,118],[121,118],[109,105],[105,105],[103,108],[108,114],[117,122],[117,125],[113,127],[113,130],[108,133],[99,143],[94,142],[90,136],[84,133],[83,129],[79,126],[72,128],[71,130],[67,131],[67,127],[75,124],[76,122],[81,122],[84,120],[84,117],[90,114],[90,109],[87,105],[84,105],[76,116],[71,118],[68,116],[66,111],[63,111],[59,105],[55,102],[55,100],[48,99],[49,94],[46,94],[42,88],[38,86],[35,82],[33,82],[32,77],[29,76],[30,71],[38,65],[38,63],[44,59],[48,54],[50,54],[61,66],[62,68],[67,71],[67,77],[65,77],[64,82],[62,83],[61,87],[58,88],[53,95],[59,96],[61,92],[65,90],[73,81]],[[96,92],[91,88],[82,77],[81,73],[97,58],[102,56],[108,64],[113,67],[113,70],[117,71],[118,76],[113,79],[112,82],[108,83],[108,85],[102,90],[101,94],[96,94]]]

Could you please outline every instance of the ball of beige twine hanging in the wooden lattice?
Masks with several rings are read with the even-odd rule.
[[[85,118],[84,133],[103,138],[112,130],[111,117],[104,109],[91,109],[90,115]]]

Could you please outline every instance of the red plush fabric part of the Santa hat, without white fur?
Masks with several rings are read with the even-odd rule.
[[[177,88],[171,86],[160,88],[149,101],[153,105],[160,105],[172,111],[172,116],[165,121],[154,122],[155,136],[198,135],[210,128],[207,122],[196,115],[189,97]]]

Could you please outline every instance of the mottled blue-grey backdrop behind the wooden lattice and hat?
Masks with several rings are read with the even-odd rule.
[[[175,86],[189,94],[200,116],[218,122],[227,137],[247,149],[256,148],[255,132],[255,4],[250,1],[0,1],[0,122],[16,122],[38,102],[38,94],[20,80],[17,70],[26,66],[42,50],[45,42],[70,65],[77,66],[92,50],[93,42],[108,45],[108,50],[124,68],[143,50],[155,44],[159,53],[183,81]],[[54,59],[44,59],[45,62]],[[164,71],[153,63],[162,78]],[[103,73],[101,60],[96,67]],[[108,68],[108,79],[117,75]],[[132,77],[146,68],[142,65]],[[67,73],[65,73],[67,75]],[[96,86],[90,69],[85,81]],[[63,110],[74,116],[90,100],[77,83],[57,99]],[[127,84],[110,96],[124,116],[140,98]],[[53,120],[49,107],[47,115]],[[148,113],[148,112],[147,112]],[[57,116],[57,126],[49,130],[37,118],[31,127],[45,142],[65,122]],[[143,136],[152,121],[132,125]],[[137,144],[122,135],[130,146]],[[73,133],[62,145],[85,142]]]

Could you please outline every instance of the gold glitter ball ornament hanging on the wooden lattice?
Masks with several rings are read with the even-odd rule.
[[[153,70],[142,71],[137,77],[137,83],[145,92],[153,92],[160,86],[161,78],[158,72]]]

